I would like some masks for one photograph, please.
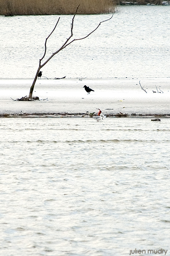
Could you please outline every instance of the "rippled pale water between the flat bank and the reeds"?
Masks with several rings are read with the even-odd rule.
[[[122,6],[90,37],[76,41],[42,68],[48,78],[166,78],[170,66],[170,6]],[[0,16],[0,78],[33,78],[45,38],[58,15]],[[72,15],[61,15],[48,40],[47,59],[70,35]],[[77,15],[73,38],[111,15]]]

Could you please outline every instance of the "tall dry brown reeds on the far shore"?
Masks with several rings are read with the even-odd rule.
[[[114,12],[115,0],[0,0],[0,15],[101,14]]]

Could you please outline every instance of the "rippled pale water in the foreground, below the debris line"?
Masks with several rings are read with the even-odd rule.
[[[169,255],[169,127],[1,118],[1,255]]]

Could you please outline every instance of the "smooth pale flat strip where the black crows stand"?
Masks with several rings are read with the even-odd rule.
[[[0,79],[0,116],[169,116],[170,78],[39,79],[35,102],[12,99],[29,94],[32,79]],[[147,93],[141,90],[139,81]],[[94,90],[87,95],[84,85]],[[123,113],[121,115],[120,113]]]

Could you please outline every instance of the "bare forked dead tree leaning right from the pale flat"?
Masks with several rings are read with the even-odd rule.
[[[47,49],[47,48],[46,48],[46,43],[47,43],[47,40],[48,40],[48,38],[50,37],[50,35],[52,35],[52,33],[54,32],[54,30],[56,29],[57,24],[58,24],[58,22],[59,22],[59,20],[60,20],[60,17],[58,18],[57,23],[56,23],[54,29],[53,29],[52,32],[49,34],[49,36],[46,38],[46,40],[45,40],[45,51],[44,51],[44,55],[43,55],[42,58],[39,60],[39,67],[38,67],[38,69],[37,69],[37,73],[36,73],[36,75],[35,75],[33,84],[32,84],[31,87],[30,87],[30,93],[29,93],[28,100],[31,100],[31,99],[33,98],[34,85],[35,85],[35,82],[36,82],[36,80],[37,80],[38,73],[39,73],[40,69],[41,69],[42,67],[44,67],[45,64],[47,64],[48,61],[49,61],[50,59],[52,59],[52,57],[53,57],[54,55],[56,55],[58,52],[60,52],[60,51],[63,50],[64,48],[66,48],[68,45],[72,44],[72,42],[78,41],[78,40],[82,40],[82,39],[84,39],[84,38],[87,38],[87,37],[88,37],[89,35],[91,35],[95,30],[98,29],[98,27],[101,25],[102,22],[105,22],[105,21],[107,21],[107,20],[110,20],[110,19],[112,19],[112,17],[113,17],[113,15],[112,15],[111,18],[109,18],[109,19],[107,19],[107,20],[101,21],[101,22],[98,24],[98,26],[97,26],[94,30],[92,30],[88,35],[86,35],[86,36],[84,36],[84,37],[82,37],[82,38],[76,38],[76,39],[70,40],[70,39],[73,37],[73,23],[74,23],[74,18],[75,18],[75,15],[76,15],[77,11],[78,11],[78,8],[79,8],[79,5],[78,5],[78,7],[77,7],[77,9],[76,9],[75,14],[73,15],[73,18],[72,18],[71,34],[70,34],[70,36],[67,38],[67,40],[64,42],[64,44],[63,44],[56,52],[52,53],[52,55],[51,55],[44,63],[41,63],[42,60],[43,60],[44,57],[45,57],[45,54],[46,54],[46,49]]]

